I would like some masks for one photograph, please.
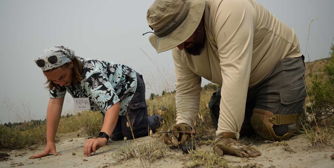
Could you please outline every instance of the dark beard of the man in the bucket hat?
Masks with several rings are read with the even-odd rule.
[[[193,56],[198,56],[202,53],[202,49],[205,46],[205,40],[206,40],[206,34],[204,26],[202,25],[202,22],[198,26],[198,28],[194,32],[195,34],[195,42],[191,42],[192,45],[190,47],[185,47],[185,51]]]

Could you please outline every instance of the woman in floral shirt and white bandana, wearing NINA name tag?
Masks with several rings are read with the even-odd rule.
[[[103,114],[104,122],[98,138],[88,139],[83,147],[85,156],[104,146],[109,137],[112,140],[132,139],[130,126],[137,138],[148,135],[148,127],[155,132],[162,121],[160,115],[147,117],[143,77],[126,65],[76,57],[73,50],[64,46],[46,49],[35,63],[47,78],[50,100],[46,147],[30,159],[49,153],[57,155],[54,138],[66,91],[73,98],[86,98],[91,110],[100,110]]]

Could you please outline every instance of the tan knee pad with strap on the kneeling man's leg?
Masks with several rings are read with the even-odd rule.
[[[271,141],[282,141],[290,139],[294,134],[293,130],[287,132],[283,136],[277,136],[273,126],[281,125],[281,124],[292,124],[292,123],[299,123],[298,114],[291,114],[291,115],[279,115],[255,108],[253,110],[253,116],[251,117],[251,125],[253,129],[263,138]]]

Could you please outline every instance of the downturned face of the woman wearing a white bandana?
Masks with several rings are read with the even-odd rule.
[[[44,75],[48,80],[59,86],[68,86],[72,83],[72,68],[73,62],[69,63],[69,67],[59,67],[51,72],[44,72]]]

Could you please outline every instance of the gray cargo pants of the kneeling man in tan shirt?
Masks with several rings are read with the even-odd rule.
[[[274,114],[288,115],[301,113],[304,119],[306,88],[304,83],[304,56],[282,59],[273,72],[259,84],[248,88],[245,118],[241,126],[240,137],[255,134],[251,126],[253,109],[259,108]],[[214,92],[209,102],[210,116],[217,130],[219,118],[220,89]],[[278,136],[296,128],[297,123],[274,125]]]

